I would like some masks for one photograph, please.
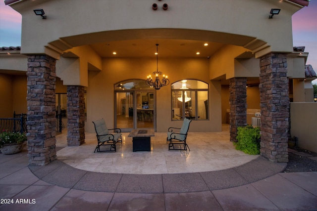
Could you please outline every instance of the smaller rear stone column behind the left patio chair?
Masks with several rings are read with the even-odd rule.
[[[67,86],[67,144],[79,146],[85,142],[84,86]]]

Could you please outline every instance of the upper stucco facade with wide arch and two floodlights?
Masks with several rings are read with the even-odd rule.
[[[48,53],[53,57],[89,43],[158,37],[247,46],[257,54],[261,50],[264,54],[291,52],[292,36],[285,35],[292,34],[291,16],[301,8],[279,0],[172,0],[168,2],[168,10],[154,11],[152,3],[149,0],[26,0],[11,6],[23,17],[22,52]],[[270,9],[275,7],[282,12],[268,19]],[[36,16],[32,11],[36,8],[44,8],[47,19]],[[161,30],[149,31],[152,29]],[[132,31],[122,33],[121,30]]]

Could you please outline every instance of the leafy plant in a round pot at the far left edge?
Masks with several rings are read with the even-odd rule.
[[[27,141],[26,135],[19,132],[2,131],[0,133],[0,149],[5,155],[21,152],[23,142]]]

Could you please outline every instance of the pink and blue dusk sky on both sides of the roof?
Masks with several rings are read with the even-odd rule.
[[[0,47],[21,45],[21,15],[0,0]],[[309,52],[306,64],[317,72],[317,0],[311,0],[292,17],[293,46],[305,46]],[[317,84],[317,80],[314,80]]]

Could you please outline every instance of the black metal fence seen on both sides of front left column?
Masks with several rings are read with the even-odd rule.
[[[0,132],[10,131],[27,133],[26,120],[26,114],[15,114],[15,112],[13,113],[13,118],[0,118]],[[58,132],[61,132],[62,129],[65,128],[61,114],[56,115],[55,128]]]

